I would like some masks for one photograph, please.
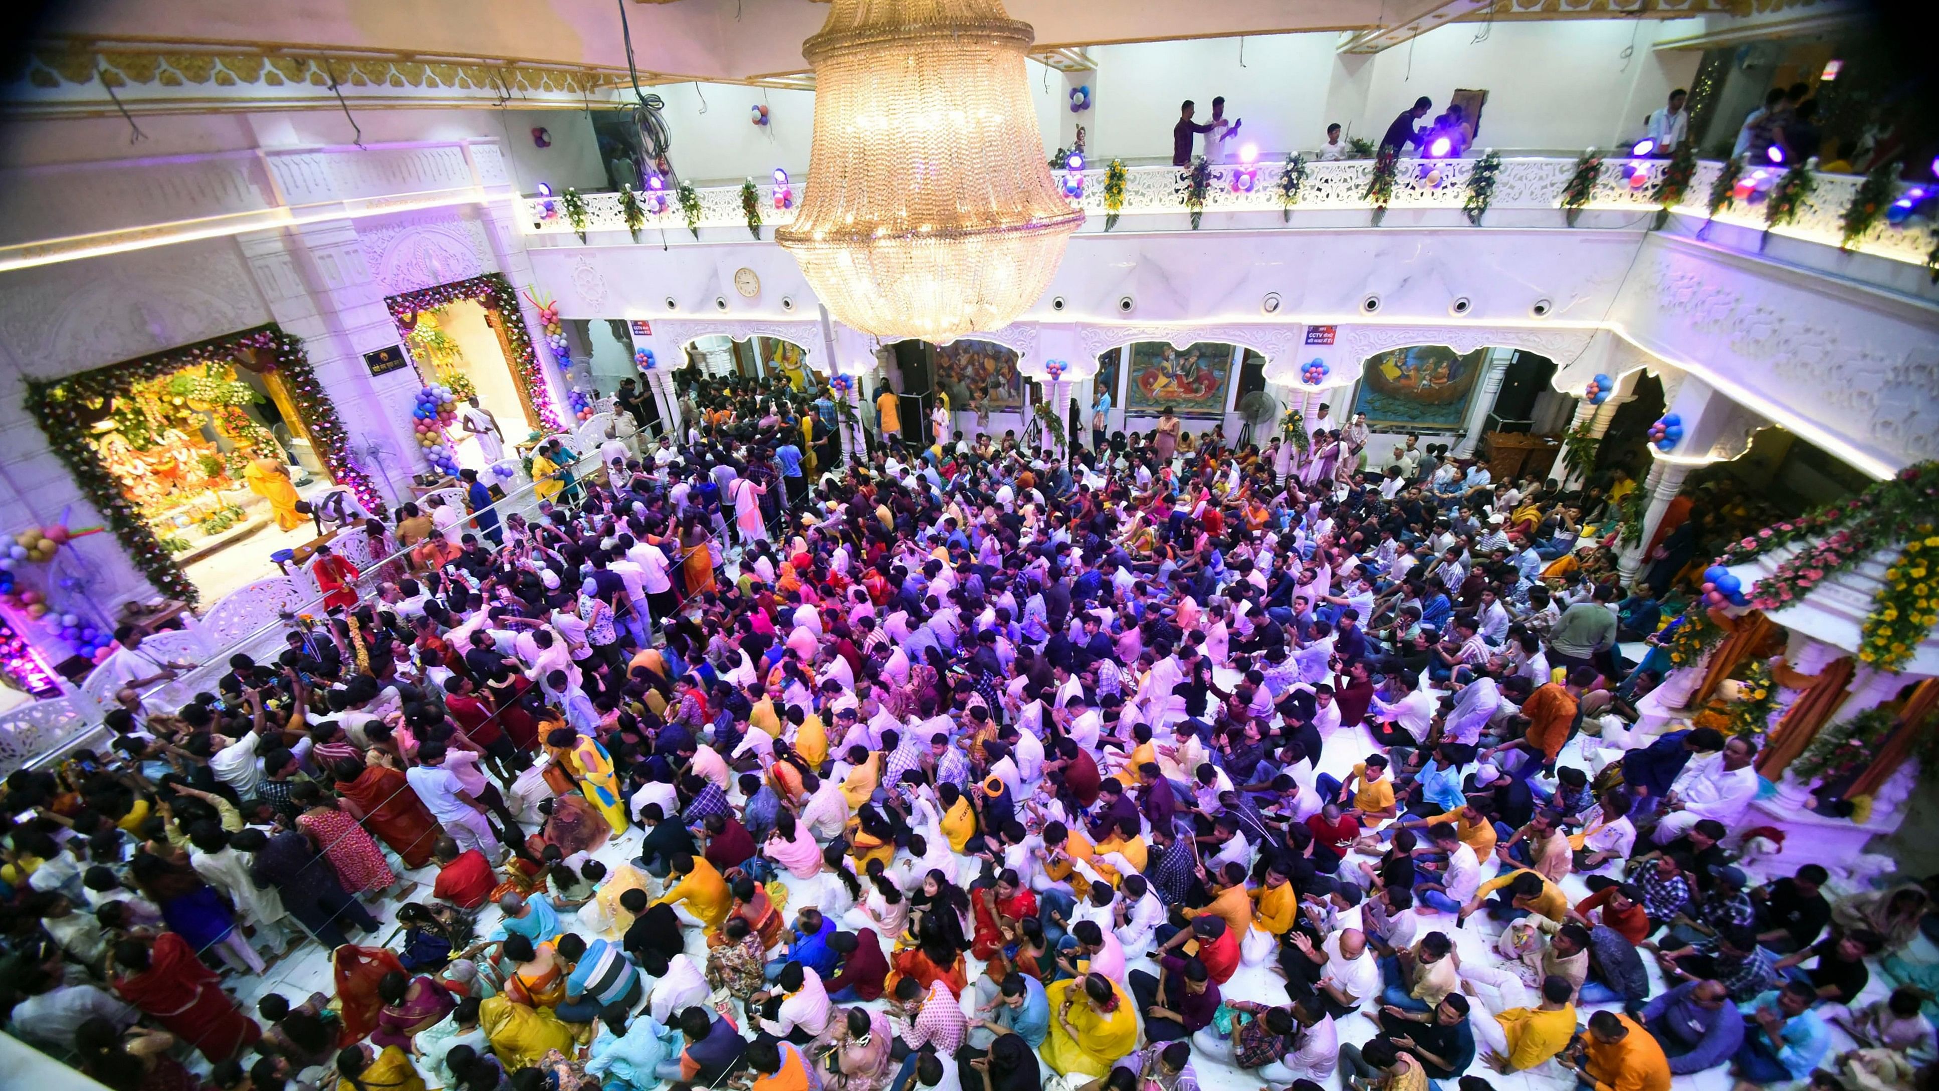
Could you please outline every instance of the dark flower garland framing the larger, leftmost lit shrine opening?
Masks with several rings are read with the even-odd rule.
[[[347,485],[365,509],[384,514],[384,501],[361,466],[351,458],[349,433],[337,417],[335,406],[310,371],[310,359],[302,351],[302,340],[285,334],[279,326],[260,326],[227,338],[198,342],[178,349],[147,355],[142,359],[97,367],[66,379],[29,379],[27,412],[47,433],[48,448],[74,474],[81,495],[103,522],[114,532],[134,567],[147,577],[161,594],[196,604],[200,592],[188,582],[182,567],[175,563],[171,549],[155,536],[147,520],[142,518],[134,501],[122,493],[120,479],[101,460],[101,452],[87,441],[93,404],[107,398],[120,400],[136,384],[161,379],[173,371],[194,365],[231,365],[240,351],[254,351],[256,363],[264,371],[275,371],[283,379],[297,417],[310,433],[310,443],[318,458],[337,483]]]

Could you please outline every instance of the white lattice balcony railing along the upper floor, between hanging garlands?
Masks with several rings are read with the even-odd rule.
[[[1460,210],[1468,200],[1468,177],[1472,175],[1474,165],[1476,159],[1402,159],[1400,171],[1394,179],[1394,196],[1388,202],[1388,208]],[[1642,184],[1631,184],[1629,179],[1633,175],[1633,167],[1642,169]],[[1596,182],[1596,194],[1588,208],[1633,212],[1654,210],[1658,206],[1656,192],[1666,167],[1668,163],[1662,159],[1605,159],[1602,177]],[[1722,167],[1722,163],[1714,161],[1699,163],[1697,177],[1691,181],[1683,200],[1675,206],[1675,212],[1704,217],[1710,184],[1716,181]],[[1231,182],[1235,171],[1237,167],[1231,165],[1214,167],[1214,181],[1206,192],[1206,214],[1280,212],[1280,163],[1260,163],[1251,188],[1245,192],[1233,190]],[[1489,210],[1561,208],[1563,188],[1569,184],[1569,177],[1573,173],[1574,159],[1503,159],[1501,173],[1495,175],[1495,192]],[[1065,171],[1055,171],[1055,175],[1063,179]],[[1181,171],[1177,167],[1130,167],[1125,177],[1125,206],[1119,214],[1125,217],[1183,214],[1185,202],[1179,192],[1179,177]],[[1307,179],[1299,190],[1299,204],[1295,206],[1295,212],[1371,208],[1365,198],[1371,177],[1371,159],[1307,163]],[[1084,171],[1084,196],[1072,198],[1072,204],[1094,217],[1105,215],[1103,181],[1103,167]],[[1844,210],[1852,204],[1852,196],[1858,192],[1863,177],[1815,175],[1815,182],[1817,184],[1813,186],[1811,196],[1807,196],[1799,206],[1797,219],[1776,227],[1774,235],[1836,247],[1842,239]],[[805,179],[793,181],[797,202],[801,200],[805,188]],[[795,214],[793,210],[774,208],[772,186],[760,184],[758,190],[762,200],[762,235],[772,239],[772,227],[793,221]],[[694,192],[700,198],[698,227],[729,227],[747,231],[747,215],[741,208],[741,186],[708,186],[696,188]],[[595,192],[584,194],[584,198],[586,231],[626,229],[626,221],[620,215],[620,194]],[[564,215],[564,206],[556,196],[524,198],[522,208],[525,212],[525,233],[549,235],[572,231],[572,225]],[[1716,219],[1763,231],[1764,206],[1739,200],[1722,210]],[[1130,225],[1134,223],[1127,223],[1127,227]],[[679,200],[675,200],[671,192],[665,194],[663,212],[653,214],[652,208],[648,208],[644,229],[655,233],[667,231],[669,237],[677,237],[686,231],[686,219],[681,214]],[[657,235],[653,241],[659,241]],[[1898,262],[1923,264],[1927,254],[1933,250],[1933,233],[1929,223],[1923,219],[1892,225],[1887,223],[1885,217],[1879,217],[1879,221],[1858,241],[1854,248]]]

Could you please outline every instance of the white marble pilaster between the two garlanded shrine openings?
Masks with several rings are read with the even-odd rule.
[[[370,276],[349,219],[304,223],[237,237],[270,314],[302,338],[316,380],[349,431],[351,456],[386,503],[411,499],[411,476],[427,466],[411,427],[421,380],[403,367],[370,375],[363,353],[403,338]]]

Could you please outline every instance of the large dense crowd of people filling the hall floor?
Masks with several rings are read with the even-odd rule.
[[[114,1091],[1920,1085],[1927,885],[1739,866],[1757,744],[1629,730],[1602,489],[681,408],[12,775],[12,1033]],[[248,988],[310,940],[334,994]]]

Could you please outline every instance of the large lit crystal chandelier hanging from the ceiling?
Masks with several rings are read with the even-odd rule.
[[[1001,0],[834,0],[803,43],[814,148],[776,239],[836,318],[948,342],[1043,295],[1084,214],[1045,163],[1032,39]]]

